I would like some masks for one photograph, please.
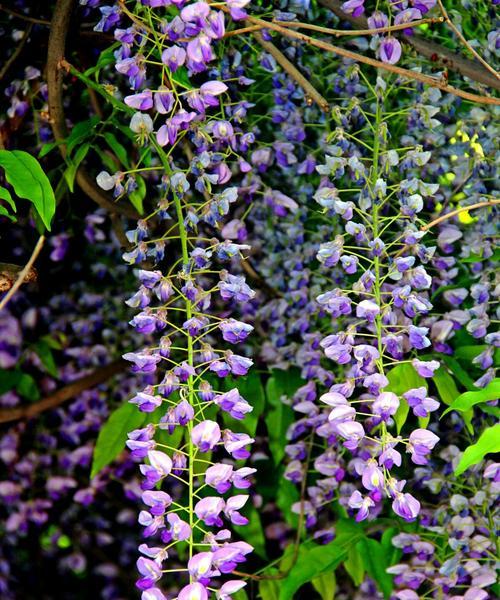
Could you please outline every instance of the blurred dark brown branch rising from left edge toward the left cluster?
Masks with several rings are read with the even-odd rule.
[[[30,419],[47,410],[53,410],[54,408],[61,406],[61,404],[64,404],[67,400],[71,400],[71,398],[74,398],[84,390],[94,388],[97,385],[104,383],[114,375],[125,371],[127,368],[128,363],[126,361],[121,358],[115,360],[109,365],[95,370],[93,373],[90,373],[90,375],[85,375],[85,377],[73,381],[35,404],[0,410],[0,423],[11,423],[12,421],[19,421],[20,419]]]

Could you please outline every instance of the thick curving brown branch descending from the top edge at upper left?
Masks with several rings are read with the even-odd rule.
[[[58,0],[56,2],[47,52],[47,91],[50,125],[54,139],[58,142],[59,151],[64,159],[67,157],[67,148],[64,141],[68,135],[68,130],[63,108],[63,71],[61,64],[64,60],[66,37],[74,5],[75,0]],[[96,185],[94,179],[83,167],[79,167],[76,172],[76,182],[80,189],[100,207],[111,213],[120,213],[133,219],[139,218],[133,207],[118,205],[110,200],[108,195]]]

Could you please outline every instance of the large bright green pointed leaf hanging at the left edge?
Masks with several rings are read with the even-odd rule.
[[[5,169],[5,178],[16,194],[33,203],[43,224],[50,231],[56,199],[40,163],[22,150],[0,150],[0,167]]]

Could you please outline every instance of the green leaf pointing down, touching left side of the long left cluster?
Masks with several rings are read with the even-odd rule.
[[[90,477],[109,465],[125,448],[127,434],[140,427],[146,419],[135,404],[126,402],[113,411],[99,431],[92,458]]]

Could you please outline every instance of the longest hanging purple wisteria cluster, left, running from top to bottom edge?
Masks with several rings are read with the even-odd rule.
[[[247,523],[240,510],[249,496],[239,492],[250,486],[255,469],[238,468],[234,461],[249,457],[253,439],[221,427],[217,411],[241,420],[252,410],[236,387],[222,389],[224,378],[246,375],[252,361],[221,345],[238,344],[252,331],[230,314],[251,302],[255,293],[244,276],[215,268],[220,262],[241,260],[249,246],[231,235],[217,239],[238,201],[238,188],[226,186],[217,193],[213,188],[233,177],[229,160],[235,173],[249,168],[238,153],[247,150],[253,137],[240,127],[245,103],[233,104],[223,114],[220,98],[228,86],[213,78],[217,73],[198,81],[215,57],[214,41],[224,34],[223,13],[205,2],[183,3],[165,19],[155,9],[169,2],[143,4],[134,13],[124,5],[101,7],[103,19],[97,27],[114,27],[123,12],[132,19],[129,28],[115,29],[121,42],[116,69],[128,77],[133,92],[124,98],[133,109],[130,129],[140,145],[154,147],[159,166],[151,170],[162,171],[158,208],[128,232],[133,249],[124,255],[139,267],[140,288],[127,303],[141,312],[131,325],[140,334],[160,336],[153,346],[124,355],[133,371],[161,374],[159,383],[138,392],[131,402],[146,413],[166,408],[159,422],[132,431],[127,443],[142,463],[146,505],[139,515],[147,543],[139,548],[143,556],[137,562],[137,585],[143,600],[163,598],[158,584],[164,562],[171,554],[181,559],[187,552],[186,567],[174,569],[187,575],[178,598],[203,600],[214,589],[214,578],[233,571],[252,550],[246,542],[231,541],[225,527]],[[240,84],[250,83],[239,79]],[[214,109],[218,114],[212,116]],[[185,158],[176,155],[174,162],[172,150],[181,145]],[[131,188],[130,182],[122,183],[123,175],[102,172],[97,182],[120,196]],[[154,233],[153,217],[159,219]],[[146,260],[161,262],[165,253],[171,259],[168,272],[143,267]],[[181,441],[173,446],[169,436],[179,430]],[[160,436],[164,432],[166,438]],[[168,492],[161,489],[165,487]],[[216,595],[228,598],[244,585],[226,581]]]

